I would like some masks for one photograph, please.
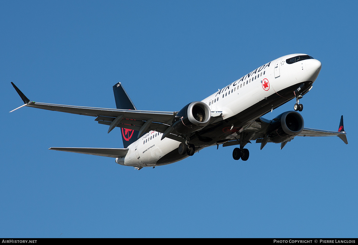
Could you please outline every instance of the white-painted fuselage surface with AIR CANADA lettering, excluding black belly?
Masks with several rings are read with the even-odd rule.
[[[314,82],[320,71],[321,63],[315,59],[302,60],[293,64],[286,63],[286,59],[297,55],[303,54],[286,55],[262,65],[205,98],[202,102],[207,104],[212,112],[222,112],[222,119],[225,120],[287,87],[304,81]],[[274,104],[272,101],[272,106]],[[241,126],[234,125],[234,127]],[[159,132],[150,131],[141,136],[129,145],[127,155],[117,158],[116,162],[135,167],[156,166],[159,159],[177,149],[180,144],[179,141],[169,138],[161,140],[162,135]],[[215,144],[214,142],[212,145]],[[183,157],[178,155],[177,161],[181,159]],[[171,162],[173,161],[168,164]]]

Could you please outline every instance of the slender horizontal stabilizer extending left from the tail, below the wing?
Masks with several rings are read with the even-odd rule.
[[[127,155],[128,149],[122,148],[71,148],[71,147],[51,147],[49,150],[68,151],[96,156],[107,157],[124,157]]]

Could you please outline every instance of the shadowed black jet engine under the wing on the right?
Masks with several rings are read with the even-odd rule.
[[[303,130],[303,117],[296,111],[286,111],[276,116],[267,128],[271,142],[281,143],[299,135]]]

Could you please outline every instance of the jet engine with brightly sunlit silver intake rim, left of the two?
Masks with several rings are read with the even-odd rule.
[[[202,129],[209,124],[211,117],[207,104],[194,101],[184,106],[173,119],[173,128],[179,134],[189,134]]]

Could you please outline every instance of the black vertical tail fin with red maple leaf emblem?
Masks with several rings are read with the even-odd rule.
[[[113,93],[117,109],[137,110],[120,82],[113,86]],[[121,131],[124,148],[127,148],[138,139],[138,131],[124,128],[121,128]]]

